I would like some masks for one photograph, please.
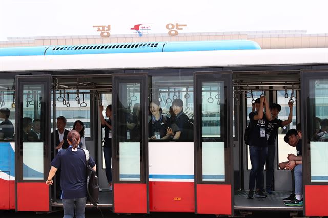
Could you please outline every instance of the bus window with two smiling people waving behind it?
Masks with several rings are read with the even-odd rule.
[[[193,76],[153,76],[151,81],[149,140],[193,141]]]

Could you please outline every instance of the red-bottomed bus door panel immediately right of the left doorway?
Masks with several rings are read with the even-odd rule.
[[[113,209],[148,213],[148,74],[116,74],[112,81]]]

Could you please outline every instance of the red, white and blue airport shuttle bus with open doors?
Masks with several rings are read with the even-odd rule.
[[[247,199],[251,161],[243,135],[252,101],[263,95],[281,105],[281,120],[293,101],[293,121],[278,129],[273,194]],[[173,135],[152,133],[152,101]],[[99,105],[109,104],[112,166],[105,166]],[[68,130],[84,123],[103,189],[99,205],[115,213],[328,215],[328,142],[314,137],[328,131],[328,48],[264,50],[246,40],[0,48],[0,115],[2,210],[62,206],[60,190],[45,181],[56,155],[51,132],[64,116]],[[278,164],[296,154],[283,138],[298,123],[304,203],[286,206],[292,174]]]

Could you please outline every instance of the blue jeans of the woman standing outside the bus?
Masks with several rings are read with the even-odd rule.
[[[63,199],[64,218],[74,217],[74,205],[76,218],[84,218],[84,210],[86,208],[87,197],[76,199]]]

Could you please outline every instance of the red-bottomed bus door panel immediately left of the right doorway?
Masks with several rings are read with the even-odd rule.
[[[233,212],[232,72],[194,73],[195,212]]]

